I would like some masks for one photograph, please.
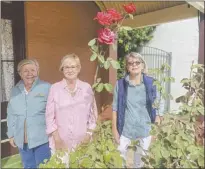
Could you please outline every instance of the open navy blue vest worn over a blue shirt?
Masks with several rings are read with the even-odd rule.
[[[156,109],[152,107],[154,100],[157,97],[156,86],[153,85],[153,78],[143,74],[143,81],[146,89],[146,104],[147,111],[149,113],[151,122],[155,122]],[[127,100],[127,88],[128,83],[125,78],[118,80],[118,100],[117,100],[117,130],[119,134],[122,134],[124,119],[125,119],[125,108]]]

